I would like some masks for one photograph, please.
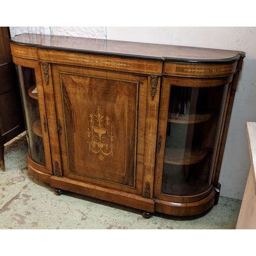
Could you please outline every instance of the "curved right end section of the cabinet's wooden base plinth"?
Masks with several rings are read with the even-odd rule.
[[[194,203],[172,203],[154,199],[155,211],[174,216],[193,216],[202,214],[214,205],[215,194],[215,190],[212,189],[209,196]]]

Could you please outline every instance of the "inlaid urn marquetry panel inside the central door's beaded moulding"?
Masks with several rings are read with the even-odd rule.
[[[69,174],[135,186],[138,83],[60,73]]]

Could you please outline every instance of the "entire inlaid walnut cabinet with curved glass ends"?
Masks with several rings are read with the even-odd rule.
[[[11,50],[36,179],[145,218],[218,202],[243,52],[36,34]]]

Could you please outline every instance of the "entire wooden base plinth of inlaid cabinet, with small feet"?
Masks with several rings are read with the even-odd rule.
[[[55,187],[57,195],[61,195],[63,190],[71,191],[77,194],[98,198],[113,203],[130,206],[143,210],[142,216],[148,219],[154,211],[162,212],[174,216],[193,216],[201,214],[214,205],[216,190],[212,188],[211,193],[203,200],[193,203],[172,203],[159,199],[146,199],[139,195],[125,193],[115,189],[104,188],[84,182],[71,180],[69,178],[59,178],[37,170],[28,163],[29,174],[36,180],[50,184]]]

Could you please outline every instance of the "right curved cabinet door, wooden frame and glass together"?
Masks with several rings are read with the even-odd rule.
[[[187,203],[211,192],[231,79],[163,78],[155,198]]]

